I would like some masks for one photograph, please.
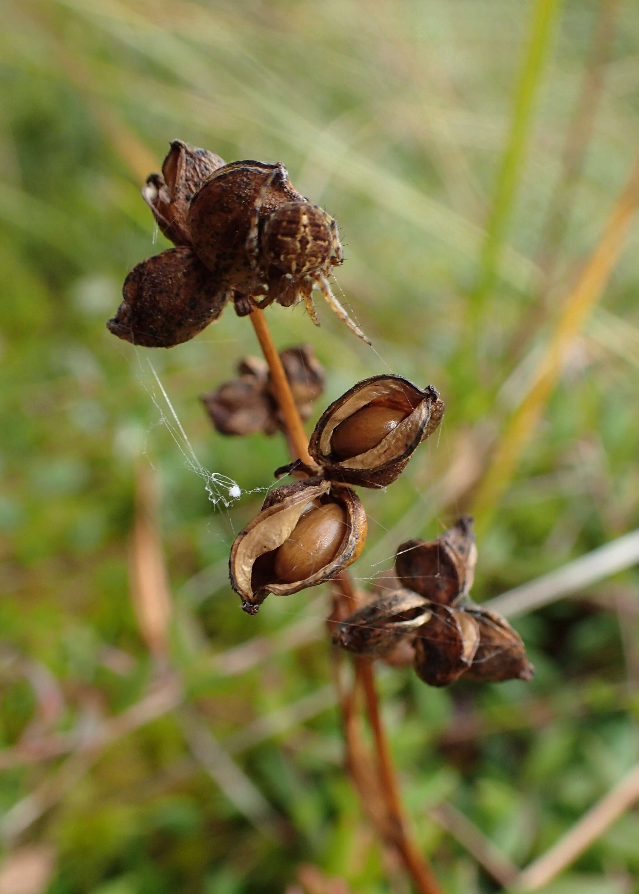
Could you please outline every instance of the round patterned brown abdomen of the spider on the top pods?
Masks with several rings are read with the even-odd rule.
[[[328,265],[334,252],[330,218],[310,202],[288,202],[268,218],[262,250],[285,274],[314,273]]]

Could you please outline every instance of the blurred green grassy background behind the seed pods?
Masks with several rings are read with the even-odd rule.
[[[561,343],[521,449],[509,429],[635,164],[636,13],[634,0],[4,0],[0,884],[17,865],[40,872],[25,894],[280,892],[310,862],[354,891],[405,890],[388,887],[342,767],[326,595],[271,597],[248,618],[227,585],[234,531],[286,459],[279,436],[222,439],[200,406],[257,351],[251,326],[227,308],[157,352],[106,332],[124,275],[166,247],[141,182],[180,138],[282,160],[335,215],[338,283],[376,350],[326,307],[320,329],[302,308],[269,309],[277,344],[312,344],[322,406],[388,369],[447,403],[405,475],[363,494],[354,576],[363,586],[402,539],[474,505],[473,593],[488,599],[639,522],[636,226]],[[208,501],[158,424],[148,358],[202,466],[256,493],[228,511]],[[512,476],[487,478],[505,443]],[[149,462],[183,692],[158,690],[132,610]],[[380,671],[418,839],[450,894],[498,885],[436,822],[440,802],[523,866],[639,760],[637,579],[517,618],[531,684],[439,691]],[[631,810],[542,890],[637,891],[638,842]]]

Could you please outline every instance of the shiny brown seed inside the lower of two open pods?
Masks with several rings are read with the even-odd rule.
[[[345,510],[337,503],[327,503],[303,515],[288,540],[277,548],[273,566],[277,583],[294,584],[310,578],[333,561],[345,526]]]

